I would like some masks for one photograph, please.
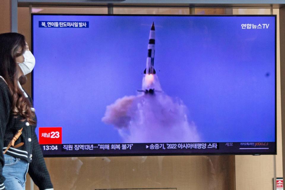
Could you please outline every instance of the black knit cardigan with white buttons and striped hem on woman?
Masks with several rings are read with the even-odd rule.
[[[9,148],[6,154],[29,162],[29,175],[40,190],[53,190],[53,185],[50,181],[50,175],[45,165],[45,160],[42,155],[35,128],[37,125],[30,125],[29,122],[20,121],[20,115],[15,118],[11,113],[11,94],[4,80],[0,78],[0,150],[3,151],[12,140],[13,136],[23,127],[23,131],[15,145],[24,143],[19,148]],[[29,96],[29,101],[33,105],[32,99]],[[34,118],[37,121],[37,117]],[[0,189],[6,189],[4,186],[5,178],[2,175],[4,166],[4,155],[0,151]]]

